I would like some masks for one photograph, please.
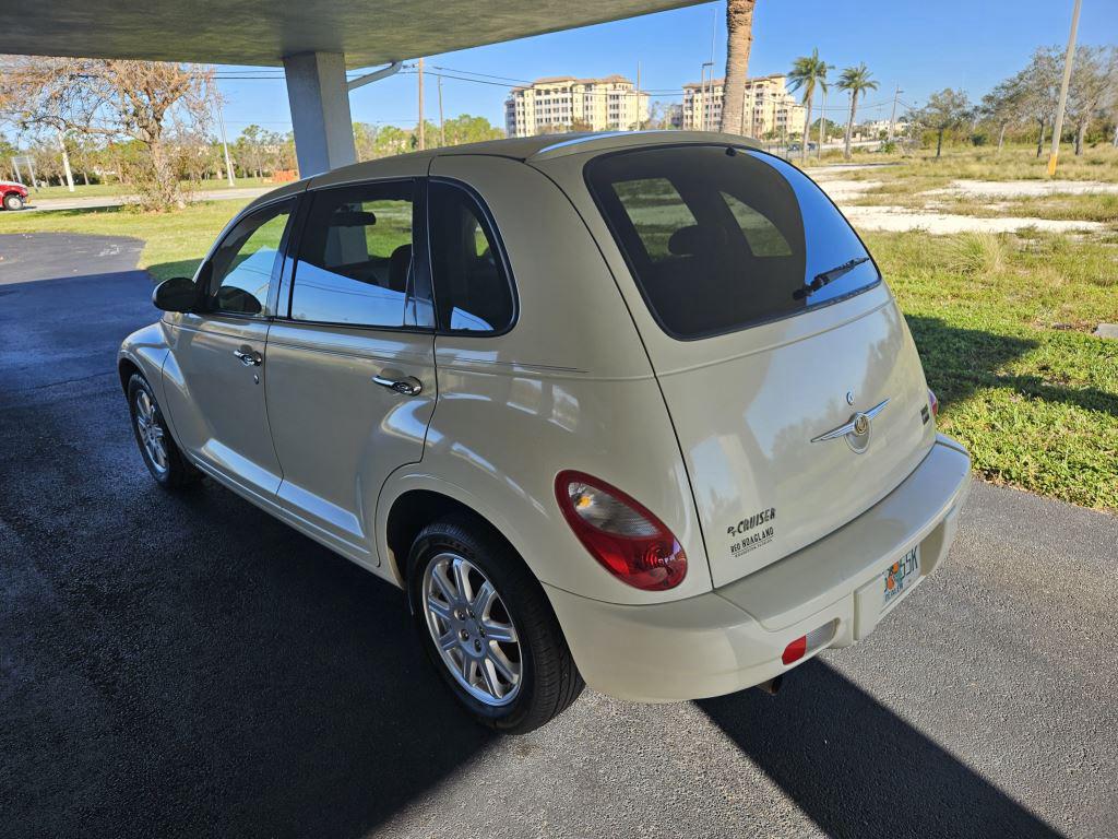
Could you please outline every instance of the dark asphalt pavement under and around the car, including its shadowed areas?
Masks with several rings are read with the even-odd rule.
[[[0,836],[1118,836],[1118,518],[976,484],[939,573],[778,696],[496,738],[398,592],[154,487],[129,242],[0,236]]]

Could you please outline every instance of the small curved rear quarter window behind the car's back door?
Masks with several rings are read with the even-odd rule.
[[[512,323],[513,299],[496,237],[466,190],[432,181],[430,265],[438,323],[461,332],[500,332]]]

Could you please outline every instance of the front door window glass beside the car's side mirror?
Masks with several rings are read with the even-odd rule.
[[[268,283],[291,216],[291,201],[264,207],[237,223],[210,257],[210,308],[234,314],[269,314]]]

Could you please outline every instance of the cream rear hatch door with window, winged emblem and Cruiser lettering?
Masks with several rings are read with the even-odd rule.
[[[724,145],[593,159],[590,194],[691,478],[714,586],[841,527],[935,440],[869,253],[787,162]],[[609,255],[607,254],[607,257]]]

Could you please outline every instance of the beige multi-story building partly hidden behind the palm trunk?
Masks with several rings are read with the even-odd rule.
[[[714,78],[683,85],[681,126],[692,131],[718,131],[722,122],[724,84],[724,78]],[[804,130],[804,106],[788,92],[786,76],[747,78],[743,101],[743,133],[747,136],[784,131],[792,134]]]

